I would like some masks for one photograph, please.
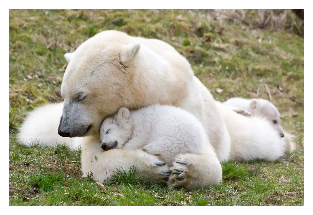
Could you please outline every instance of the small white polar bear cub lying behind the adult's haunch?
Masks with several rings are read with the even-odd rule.
[[[280,137],[285,136],[280,125],[280,113],[271,102],[261,98],[245,99],[235,97],[228,99],[223,104],[232,107],[233,111],[242,115],[264,117],[273,124]]]

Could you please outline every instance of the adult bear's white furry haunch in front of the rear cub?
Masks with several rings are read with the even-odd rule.
[[[279,159],[287,151],[287,143],[265,118],[245,117],[217,102],[226,123],[232,160]]]

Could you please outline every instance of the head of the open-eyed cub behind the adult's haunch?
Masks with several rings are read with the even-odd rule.
[[[280,137],[285,136],[283,128],[280,126],[280,113],[271,102],[265,99],[254,98],[251,100],[249,106],[255,115],[268,119],[279,132]]]

